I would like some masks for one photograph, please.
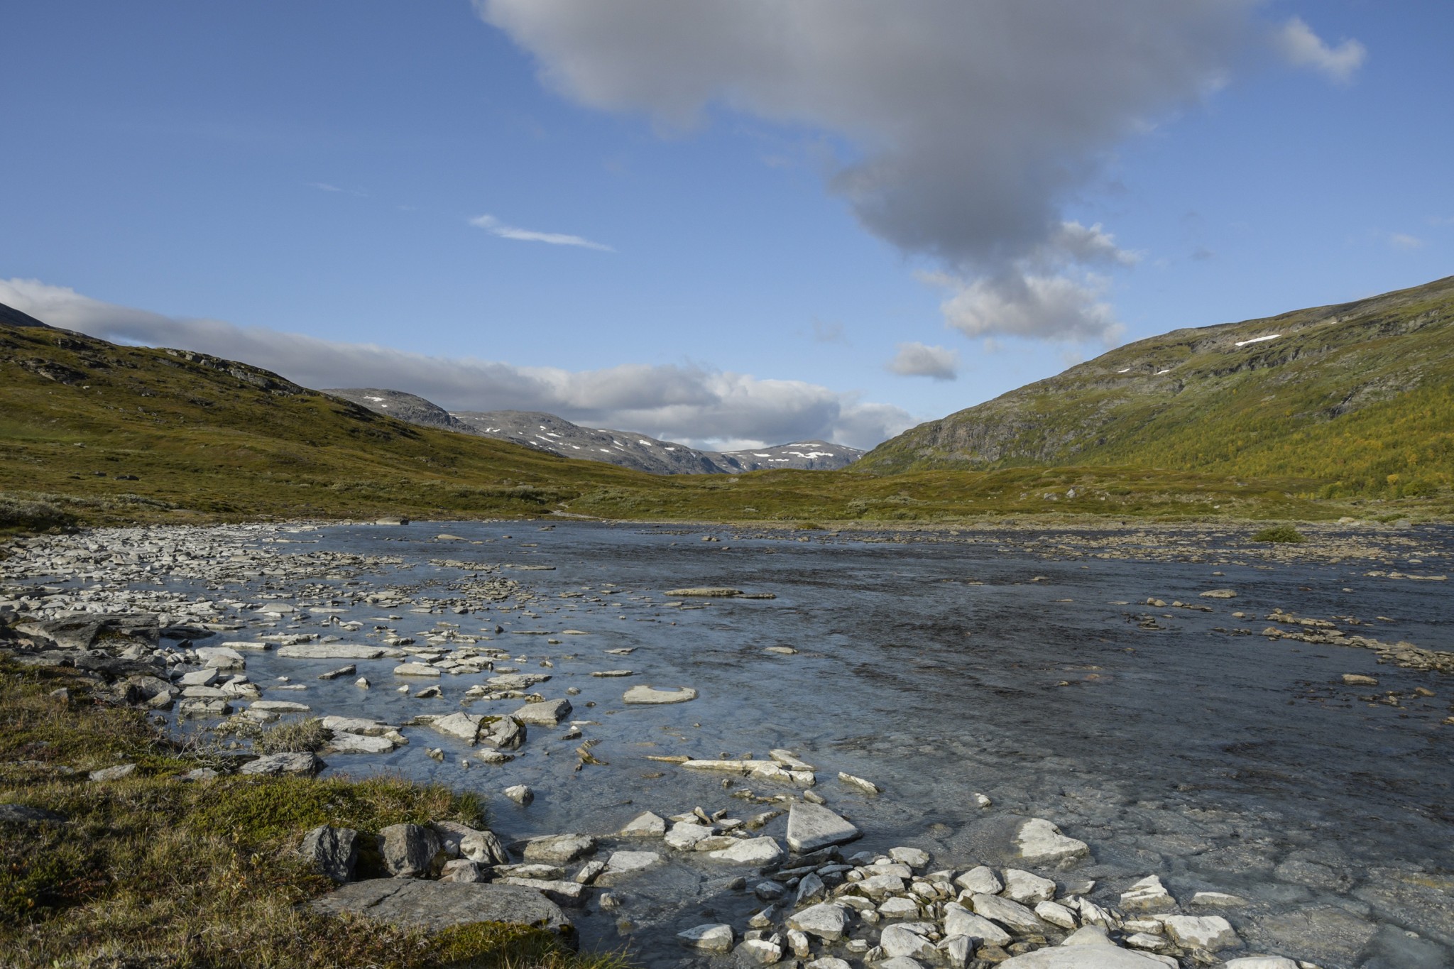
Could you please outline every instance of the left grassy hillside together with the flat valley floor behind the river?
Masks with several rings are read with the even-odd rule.
[[[1316,479],[1134,466],[648,475],[397,421],[201,353],[0,314],[0,529],[259,516],[932,522],[995,514],[1323,519]],[[1387,510],[1386,510],[1387,511]]]

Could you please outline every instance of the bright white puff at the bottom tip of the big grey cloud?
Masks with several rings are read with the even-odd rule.
[[[945,321],[967,337],[1022,337],[1114,344],[1124,327],[1104,301],[1105,280],[1086,275],[1044,276],[1005,272],[965,280],[948,273],[926,282],[949,291],[941,304]]]

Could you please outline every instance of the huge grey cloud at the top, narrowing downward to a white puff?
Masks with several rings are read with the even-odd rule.
[[[1114,327],[1079,275],[1096,240],[1067,234],[1061,206],[1120,141],[1216,89],[1249,49],[1339,77],[1362,57],[1348,44],[1329,51],[1301,20],[1275,32],[1253,16],[1256,0],[475,6],[538,58],[547,84],[585,105],[673,128],[720,105],[826,132],[840,148],[829,186],[868,231],[936,260],[958,289],[993,289],[981,309],[1029,301],[973,328],[1038,338]],[[1028,264],[1051,250],[1053,270]]]

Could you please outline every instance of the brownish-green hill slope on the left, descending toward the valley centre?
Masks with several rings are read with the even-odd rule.
[[[3,308],[9,309],[9,307]],[[539,513],[634,475],[375,414],[276,373],[0,314],[0,491],[90,519]]]

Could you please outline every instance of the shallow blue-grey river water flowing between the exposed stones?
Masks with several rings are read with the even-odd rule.
[[[465,542],[432,540],[441,532]],[[1261,632],[1265,616],[1281,607],[1322,619],[1357,616],[1374,626],[1359,628],[1364,635],[1448,649],[1454,596],[1447,584],[1367,577],[1367,562],[1269,568],[1217,549],[1202,549],[1202,562],[1098,559],[1077,555],[1073,539],[1056,561],[1024,549],[1024,535],[883,543],[682,532],[586,523],[541,530],[515,522],[337,526],[292,536],[317,540],[292,551],[401,556],[403,567],[358,575],[362,584],[332,583],[339,619],[365,623],[358,633],[339,633],[345,641],[369,642],[364,632],[372,620],[420,644],[439,620],[457,622],[461,633],[489,635],[483,645],[522,657],[522,673],[553,676],[535,687],[545,697],[580,689],[569,697],[571,719],[589,721],[585,738],[599,741],[592,754],[606,761],[576,770],[582,741],[560,739],[563,723],[531,726],[509,764],[464,769],[461,758],[471,753],[464,744],[407,728],[409,747],[382,757],[330,755],[329,770],[394,770],[478,789],[491,795],[491,827],[510,841],[606,834],[644,809],[670,815],[701,805],[749,816],[765,808],[730,796],[749,782],[739,779],[727,790],[721,774],[644,755],[765,757],[787,747],[817,766],[817,790],[865,832],[852,850],[907,844],[929,850],[931,867],[995,863],[1000,859],[986,841],[986,818],[1041,816],[1088,841],[1093,854],[1076,869],[1045,873],[1096,879],[1092,898],[1102,904],[1159,873],[1179,899],[1201,889],[1249,898],[1250,907],[1221,914],[1252,950],[1325,966],[1450,963],[1454,896],[1431,893],[1426,883],[1450,885],[1454,870],[1454,726],[1441,723],[1454,683],[1378,665],[1367,649],[1216,632]],[[1419,532],[1421,543],[1439,555],[1454,548],[1450,530]],[[723,540],[702,542],[704,533]],[[443,585],[464,572],[429,564],[441,558],[554,571],[500,572],[537,593],[529,603],[535,617],[521,609],[452,615],[394,607],[400,619],[387,620],[390,609],[349,604],[375,584],[446,596]],[[682,585],[730,585],[776,599],[664,606],[682,601],[664,596]],[[1239,594],[1200,599],[1208,588]],[[254,593],[233,587],[240,599]],[[1137,604],[1149,596],[1211,612]],[[1248,617],[1232,617],[1234,610]],[[1146,616],[1162,629],[1143,628]],[[320,622],[308,616],[298,631],[337,633]],[[505,635],[494,633],[496,623]],[[544,635],[513,635],[561,629],[587,635],[557,635],[558,645]],[[244,629],[206,645],[288,631]],[[763,652],[776,645],[800,652]],[[605,654],[622,646],[635,651]],[[554,667],[539,667],[541,660]],[[247,673],[265,689],[279,676],[307,686],[269,690],[268,699],[393,723],[454,712],[464,692],[490,676],[445,676],[443,697],[433,700],[410,696],[429,681],[393,677],[397,660],[356,662],[371,690],[353,686],[353,677],[316,678],[343,662],[352,661],[253,654]],[[589,676],[612,668],[635,676]],[[1343,686],[1345,673],[1377,676],[1380,686]],[[701,696],[673,706],[622,705],[622,692],[637,683],[691,686]],[[400,693],[400,684],[411,690]],[[1413,696],[1415,687],[1437,696]],[[1359,699],[1390,690],[1400,706]],[[506,713],[519,703],[467,709]],[[445,761],[430,760],[429,747],[442,747]],[[877,782],[884,793],[842,786],[840,770]],[[534,787],[534,803],[518,808],[493,796],[516,783]],[[762,795],[792,790],[749,786]],[[977,808],[974,792],[993,808]],[[779,818],[766,832],[781,837],[782,827]],[[647,965],[680,965],[691,957],[673,943],[676,931],[705,921],[740,930],[760,908],[750,893],[726,889],[740,873],[678,857],[614,889],[622,908],[602,912],[592,901],[574,917],[589,944],[625,943]]]

